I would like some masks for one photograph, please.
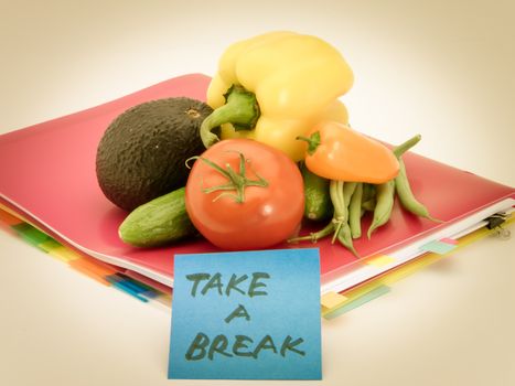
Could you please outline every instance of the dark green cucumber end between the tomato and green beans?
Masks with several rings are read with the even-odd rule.
[[[304,164],[301,165],[301,173],[304,180],[304,217],[313,221],[332,217],[330,181],[310,172]]]

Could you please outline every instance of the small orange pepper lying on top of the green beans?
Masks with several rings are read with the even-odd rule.
[[[383,143],[348,126],[324,121],[298,137],[308,142],[305,167],[329,180],[384,183],[399,172],[399,161]]]

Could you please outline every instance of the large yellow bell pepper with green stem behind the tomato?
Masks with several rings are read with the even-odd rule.
[[[222,139],[253,138],[282,150],[293,161],[304,157],[297,140],[322,120],[347,124],[337,99],[353,84],[342,55],[323,40],[294,32],[269,32],[230,45],[207,89],[214,109],[201,128],[207,147]]]

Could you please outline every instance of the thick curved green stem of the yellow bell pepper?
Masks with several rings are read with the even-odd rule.
[[[201,125],[201,139],[206,148],[219,141],[212,130],[223,124],[232,124],[235,130],[254,129],[259,118],[256,94],[233,85],[225,93],[225,105],[216,108]]]

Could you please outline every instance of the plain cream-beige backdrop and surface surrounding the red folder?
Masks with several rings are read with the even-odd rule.
[[[212,75],[229,43],[286,29],[344,54],[355,128],[394,143],[419,132],[417,152],[515,185],[514,15],[511,0],[1,0],[0,133]],[[324,321],[312,384],[515,384],[514,246],[479,242]],[[227,384],[168,382],[169,328],[168,311],[0,233],[0,384]]]

